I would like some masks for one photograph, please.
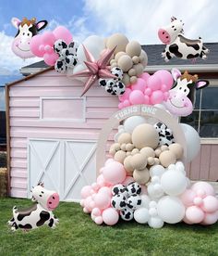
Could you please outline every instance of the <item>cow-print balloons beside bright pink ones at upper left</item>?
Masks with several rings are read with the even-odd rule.
[[[55,42],[55,53],[59,58],[55,62],[55,70],[65,73],[67,69],[73,69],[78,64],[77,50],[78,45],[71,42],[69,45],[62,39]]]

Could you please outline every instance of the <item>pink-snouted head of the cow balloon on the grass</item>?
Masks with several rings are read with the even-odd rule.
[[[54,211],[59,204],[59,195],[55,191],[47,190],[40,183],[31,189],[32,201],[37,201],[47,211]]]

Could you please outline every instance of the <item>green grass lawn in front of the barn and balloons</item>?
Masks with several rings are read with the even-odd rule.
[[[79,204],[60,203],[60,224],[24,233],[11,232],[6,222],[12,207],[30,200],[0,198],[0,255],[218,255],[218,224],[212,226],[165,224],[162,229],[120,221],[98,226]]]

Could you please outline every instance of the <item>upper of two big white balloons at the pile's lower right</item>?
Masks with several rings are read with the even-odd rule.
[[[187,178],[179,171],[169,170],[163,173],[161,185],[166,194],[170,196],[178,196],[186,190]]]

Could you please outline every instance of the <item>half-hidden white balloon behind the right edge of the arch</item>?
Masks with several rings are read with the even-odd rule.
[[[200,135],[186,123],[180,123],[187,141],[187,161],[193,160],[200,151]]]

